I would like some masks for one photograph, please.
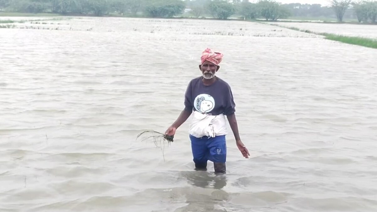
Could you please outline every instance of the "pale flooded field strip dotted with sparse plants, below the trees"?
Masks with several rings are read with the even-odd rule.
[[[72,21],[70,19],[72,19]],[[13,20],[13,18],[8,20],[3,18],[2,21]],[[5,26],[6,24],[2,25]],[[159,35],[163,34],[226,35],[241,37],[318,37],[316,35],[308,35],[302,32],[277,28],[275,26],[263,26],[249,22],[221,22],[217,20],[193,21],[149,18],[43,17],[40,19],[18,18],[14,20],[14,23],[8,25],[11,25],[11,28],[17,29],[56,30],[58,28],[58,30],[64,31],[132,32],[132,34],[135,35],[140,33],[156,33],[153,35],[154,37],[159,37]]]

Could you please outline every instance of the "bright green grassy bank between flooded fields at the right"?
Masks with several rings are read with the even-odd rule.
[[[277,24],[272,24],[272,25],[273,26],[279,26]],[[296,27],[285,27],[285,26],[279,26],[279,27],[292,29],[292,30],[296,30],[296,31],[300,31],[300,32],[306,32],[306,33],[310,33],[310,34],[322,35],[327,40],[339,41],[339,42],[342,42],[342,43],[347,43],[347,44],[377,49],[377,39],[336,35],[336,34],[331,34],[331,33],[317,33],[317,32],[312,32],[312,31],[309,31],[309,30],[302,30],[302,29],[299,29],[299,28],[296,28]]]

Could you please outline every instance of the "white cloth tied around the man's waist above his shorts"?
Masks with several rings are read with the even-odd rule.
[[[192,121],[189,125],[189,133],[196,138],[226,135],[227,124],[225,115],[208,115],[194,111]]]

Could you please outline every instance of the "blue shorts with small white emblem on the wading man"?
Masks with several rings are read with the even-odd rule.
[[[196,138],[190,135],[193,161],[195,164],[207,164],[207,160],[214,163],[225,163],[227,159],[227,144],[225,135],[215,138],[207,136]]]

